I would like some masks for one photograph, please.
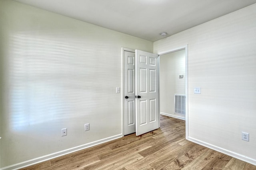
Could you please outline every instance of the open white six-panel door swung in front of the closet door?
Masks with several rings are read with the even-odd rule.
[[[158,129],[158,55],[136,50],[136,136]]]

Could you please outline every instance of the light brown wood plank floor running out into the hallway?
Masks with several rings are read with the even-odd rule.
[[[127,135],[22,170],[256,170],[185,139],[185,121],[160,116],[161,128]]]

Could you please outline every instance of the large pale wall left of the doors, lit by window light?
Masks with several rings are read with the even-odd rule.
[[[1,167],[122,135],[121,48],[152,42],[11,0],[0,24]]]

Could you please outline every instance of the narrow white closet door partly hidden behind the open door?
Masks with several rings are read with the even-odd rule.
[[[135,53],[124,51],[124,135],[135,131]]]

